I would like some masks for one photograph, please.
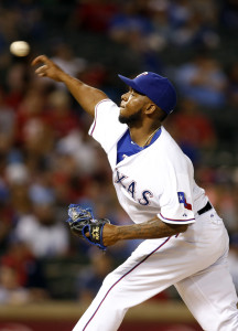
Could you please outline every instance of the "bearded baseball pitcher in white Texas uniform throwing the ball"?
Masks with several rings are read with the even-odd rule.
[[[104,280],[74,331],[116,331],[130,307],[174,285],[203,330],[237,331],[237,295],[228,271],[229,239],[191,160],[163,127],[176,105],[166,77],[120,76],[128,90],[118,107],[104,92],[69,76],[45,55],[39,76],[63,82],[94,122],[89,135],[106,151],[118,200],[134,224],[116,226],[71,205],[73,233],[101,249],[144,239]]]

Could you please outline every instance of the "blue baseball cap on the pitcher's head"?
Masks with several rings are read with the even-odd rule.
[[[155,73],[144,72],[130,79],[118,75],[128,86],[148,96],[158,107],[166,114],[173,111],[176,105],[176,92],[172,83]]]

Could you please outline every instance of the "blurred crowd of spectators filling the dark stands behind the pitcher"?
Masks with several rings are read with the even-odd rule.
[[[125,88],[118,67],[123,75],[155,71],[173,81],[178,104],[165,127],[226,223],[238,275],[238,43],[229,43],[237,32],[236,0],[1,1],[0,303],[54,298],[44,261],[74,256],[85,259],[74,270],[72,299],[90,300],[139,244],[102,255],[71,235],[69,203],[91,206],[115,224],[131,221],[118,205],[104,151],[88,137],[91,118],[62,84],[34,75],[31,60],[41,53],[116,103]],[[101,36],[108,66],[93,42]],[[15,40],[30,43],[30,55],[10,54]]]

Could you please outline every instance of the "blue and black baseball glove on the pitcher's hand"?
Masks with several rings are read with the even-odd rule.
[[[66,222],[75,235],[85,238],[100,249],[105,250],[107,248],[102,242],[102,229],[106,223],[110,223],[109,220],[96,220],[91,209],[83,209],[79,204],[68,206],[68,216],[69,218]],[[87,233],[89,236],[86,235]]]

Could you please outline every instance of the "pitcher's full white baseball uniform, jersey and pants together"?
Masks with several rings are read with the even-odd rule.
[[[227,231],[213,207],[204,211],[207,197],[194,182],[191,161],[162,128],[153,143],[117,164],[118,141],[128,129],[118,115],[111,100],[100,102],[89,132],[108,154],[122,207],[136,223],[158,215],[191,225],[180,235],[143,241],[105,278],[74,331],[116,331],[129,308],[172,285],[203,330],[237,331]]]

